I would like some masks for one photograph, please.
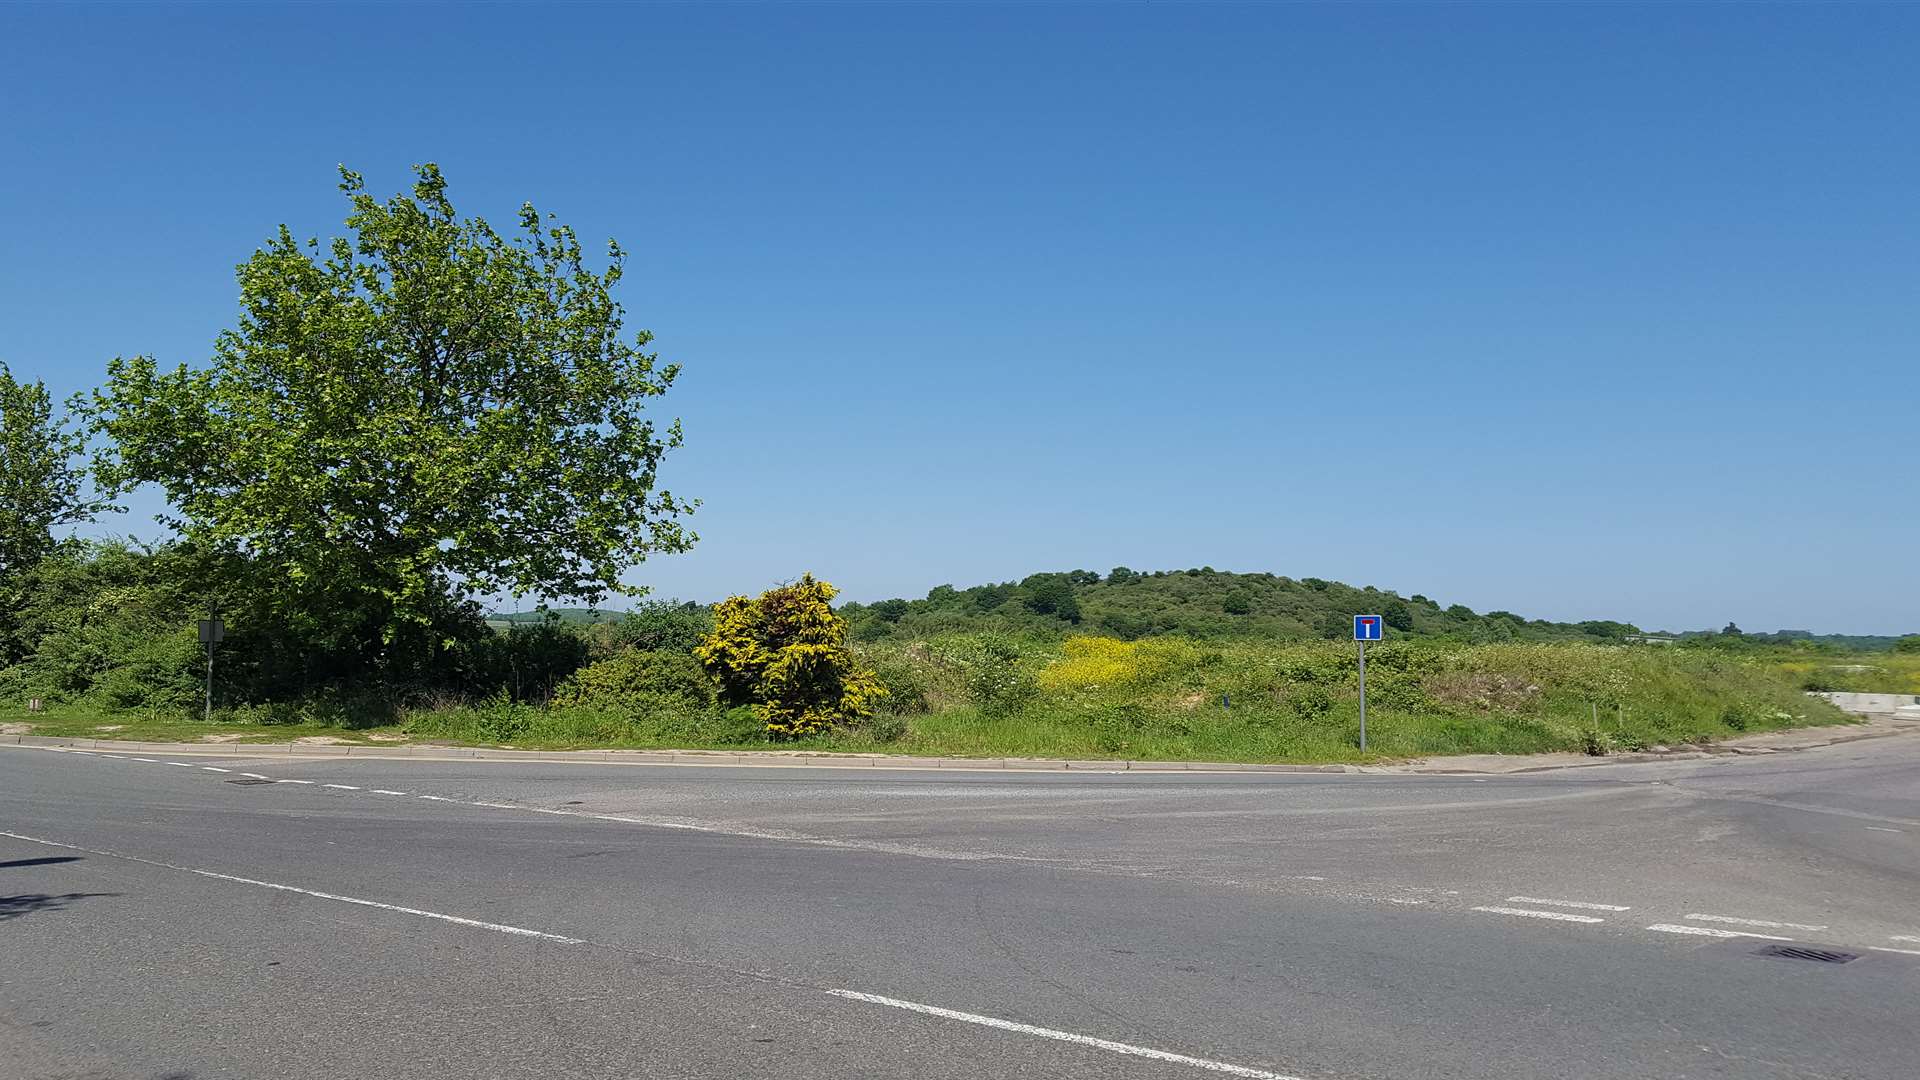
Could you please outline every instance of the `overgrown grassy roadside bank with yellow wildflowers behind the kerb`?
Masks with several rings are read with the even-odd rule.
[[[856,728],[789,749],[960,757],[1348,763],[1446,753],[1611,753],[1741,732],[1849,723],[1807,698],[1807,675],[1774,657],[1584,644],[1369,650],[1369,751],[1357,749],[1350,646],[1198,644],[1179,638],[950,634],[862,651],[889,707]],[[196,742],[442,742],[570,748],[766,748],[747,709],[674,703],[589,709],[490,701],[396,709],[355,726],[298,711],[186,717],[56,705],[0,724],[35,734]]]

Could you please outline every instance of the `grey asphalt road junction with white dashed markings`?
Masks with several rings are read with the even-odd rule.
[[[1916,1063],[1920,736],[1488,778],[0,749],[8,1080]]]

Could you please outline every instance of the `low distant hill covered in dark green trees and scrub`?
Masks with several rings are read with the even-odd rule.
[[[1382,615],[1388,634],[1469,642],[1622,642],[1640,630],[1628,623],[1549,623],[1511,611],[1478,613],[1461,603],[1398,596],[1371,586],[1281,575],[1066,571],[1020,582],[973,588],[939,586],[924,600],[847,603],[841,613],[860,640],[1006,628],[1073,630],[1142,638],[1352,638],[1356,613]]]

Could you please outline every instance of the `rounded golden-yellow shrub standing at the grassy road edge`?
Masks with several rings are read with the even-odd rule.
[[[753,705],[770,738],[820,734],[874,713],[887,688],[847,648],[837,590],[804,575],[714,607],[714,630],[695,650],[730,705]]]

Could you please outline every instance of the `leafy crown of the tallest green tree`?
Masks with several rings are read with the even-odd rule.
[[[501,234],[417,173],[380,202],[342,169],[351,238],[280,227],[240,263],[209,365],[115,359],[102,482],[157,484],[167,523],[315,632],[392,644],[463,598],[639,592],[624,571],[695,538],[657,484],[682,434],[647,405],[678,365],[622,332],[626,252],[591,269],[551,215]]]

